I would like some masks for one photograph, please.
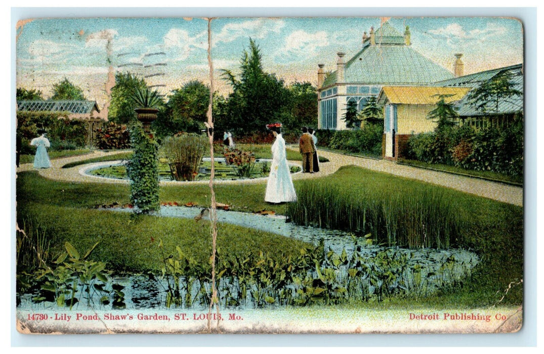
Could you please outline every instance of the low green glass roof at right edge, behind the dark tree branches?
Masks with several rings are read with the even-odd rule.
[[[433,84],[434,86],[465,86],[468,88],[477,88],[484,82],[491,80],[497,74],[508,71],[511,75],[511,83],[513,88],[523,92],[523,65],[516,64],[512,66],[500,67],[498,69],[486,70],[482,72],[477,72],[474,74],[469,74],[465,76],[456,77],[450,80],[444,80]],[[489,103],[489,111],[495,112],[496,107],[493,107],[494,103]],[[478,116],[483,115],[484,113],[477,110],[468,99],[468,95],[465,96],[458,104],[458,114],[460,116]],[[512,95],[508,100],[503,100],[499,102],[498,105],[498,114],[510,114],[523,111],[523,94],[521,96]]]

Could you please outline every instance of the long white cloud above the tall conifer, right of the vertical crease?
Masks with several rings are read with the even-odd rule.
[[[232,42],[239,37],[265,38],[269,33],[279,33],[285,26],[285,21],[271,18],[256,18],[240,23],[228,23],[218,34],[212,34],[212,45],[219,42]]]

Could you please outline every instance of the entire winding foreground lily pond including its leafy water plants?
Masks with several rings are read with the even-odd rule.
[[[131,212],[129,208],[109,210]],[[158,216],[195,218],[201,212],[195,207],[163,206]],[[218,254],[218,297],[220,305],[227,308],[417,299],[438,290],[456,291],[479,262],[475,253],[466,250],[382,247],[364,236],[299,226],[283,216],[218,210],[218,221],[311,244],[300,250],[300,256],[281,260],[258,253],[222,261]],[[67,251],[70,253],[68,246]],[[34,285],[27,294],[17,294],[17,305],[26,309],[206,309],[211,294],[209,266],[195,262],[180,249],[166,254],[161,274],[102,272],[98,277],[61,279],[53,272],[44,276],[45,283]],[[77,262],[85,268],[85,262]],[[88,264],[89,268],[97,266],[101,268],[100,264]]]

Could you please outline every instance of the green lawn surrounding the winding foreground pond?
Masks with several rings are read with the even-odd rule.
[[[523,208],[464,194],[435,185],[399,178],[386,173],[345,166],[333,175],[321,178],[322,183],[342,186],[347,191],[362,188],[375,191],[397,190],[413,193],[422,189],[441,189],[444,197],[465,219],[463,248],[477,252],[481,263],[473,275],[456,293],[438,294],[423,299],[431,306],[490,306],[499,301],[511,282],[523,278]],[[301,183],[295,181],[295,189]],[[217,201],[233,210],[275,210],[285,214],[286,205],[269,205],[263,201],[265,183],[249,185],[216,185]],[[210,190],[207,185],[160,188],[162,202],[194,202],[207,206]],[[153,218],[89,209],[97,204],[128,203],[128,186],[97,183],[64,183],[42,178],[34,171],[17,177],[17,220],[33,220],[52,235],[52,247],[60,251],[63,241],[73,242],[80,250],[100,240],[99,249],[92,254],[119,269],[157,269],[155,243],[164,239],[165,245],[180,245],[184,251],[196,252],[206,259],[209,249],[209,228],[194,220]],[[219,227],[222,254],[243,251],[269,252],[274,257],[296,253],[302,243],[277,235],[232,226]],[[151,239],[153,237],[153,240]],[[196,247],[195,247],[196,246]],[[280,251],[281,250],[281,251]],[[511,288],[503,304],[521,304],[523,289]],[[395,300],[396,301],[396,300]],[[398,300],[403,302],[404,300]]]

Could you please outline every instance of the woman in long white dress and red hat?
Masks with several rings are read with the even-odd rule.
[[[264,201],[269,203],[295,202],[296,192],[291,178],[291,171],[287,164],[285,140],[281,136],[281,124],[269,124],[276,141],[272,145],[272,164],[268,176],[267,192]]]

